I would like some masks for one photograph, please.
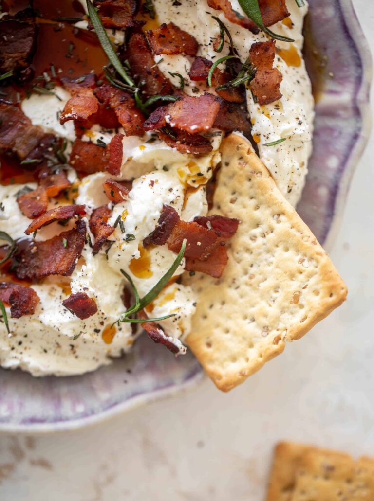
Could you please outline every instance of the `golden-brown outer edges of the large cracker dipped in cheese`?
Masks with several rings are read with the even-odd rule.
[[[278,205],[280,207],[280,210],[282,210],[284,214],[286,214],[290,219],[294,219],[293,225],[297,230],[299,230],[300,232],[311,233],[310,228],[302,221],[292,205],[283,197],[283,195],[277,188],[270,172],[256,155],[254,149],[247,139],[239,134],[231,134],[223,140],[220,149],[222,156],[234,156],[236,154],[239,154],[248,164],[249,168],[254,169],[257,172],[261,172],[262,175],[261,177],[258,177],[257,181],[258,185],[260,185],[262,190],[269,193],[269,197],[272,198],[274,205]],[[240,172],[243,172],[243,170],[240,171],[238,169],[238,175],[240,175]],[[288,342],[300,339],[302,336],[304,336],[310,329],[312,329],[312,327],[314,327],[318,322],[327,317],[335,308],[340,306],[345,301],[347,296],[347,288],[341,277],[333,267],[328,254],[318,243],[317,239],[315,239],[315,241],[315,251],[321,253],[320,270],[321,273],[326,276],[325,284],[328,284],[328,286],[334,292],[334,301],[325,299],[320,304],[319,312],[315,312],[314,315],[311,315],[304,323],[290,327],[285,338]],[[310,248],[309,245],[304,245],[308,249]],[[303,242],[300,242],[300,248],[302,249],[302,247]],[[230,256],[230,249],[228,249],[228,253],[229,259],[232,259]],[[324,269],[325,271],[323,271]],[[204,350],[201,349],[200,338],[201,336],[197,336],[195,333],[193,333],[190,334],[185,341],[192,352],[195,354],[196,358],[204,367],[208,376],[215,383],[217,388],[224,392],[230,391],[239,384],[243,383],[249,376],[261,369],[261,367],[263,367],[266,362],[282,353],[286,346],[284,340],[280,340],[277,345],[272,344],[267,346],[263,351],[263,357],[257,360],[257,362],[253,363],[250,369],[247,369],[245,371],[245,374],[239,374],[236,371],[231,373],[226,372],[223,374],[220,371],[210,369],[207,366],[207,357],[204,354]]]

